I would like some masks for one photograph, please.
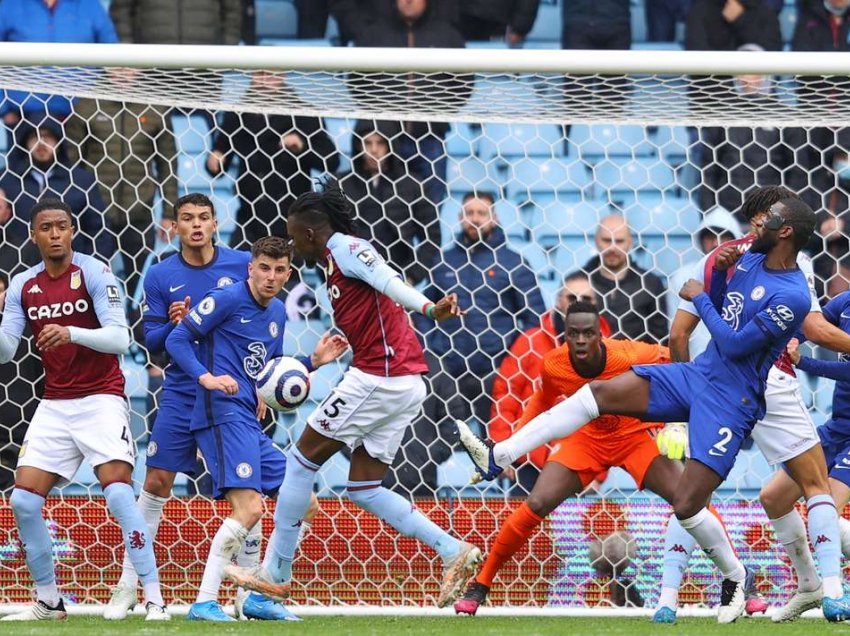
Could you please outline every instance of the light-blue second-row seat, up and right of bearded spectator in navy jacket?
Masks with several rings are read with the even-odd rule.
[[[537,203],[539,194],[550,194],[561,201],[582,200],[592,198],[593,179],[589,166],[582,161],[520,159],[508,167],[506,193],[519,203]]]

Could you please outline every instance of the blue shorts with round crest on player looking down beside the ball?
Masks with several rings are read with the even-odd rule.
[[[286,455],[256,422],[228,422],[195,431],[212,475],[213,497],[230,488],[250,488],[273,497],[283,483]]]

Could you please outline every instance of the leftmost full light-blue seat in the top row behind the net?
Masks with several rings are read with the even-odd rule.
[[[478,147],[481,157],[560,157],[561,126],[555,124],[484,124]]]

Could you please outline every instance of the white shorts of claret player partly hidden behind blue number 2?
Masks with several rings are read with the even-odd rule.
[[[753,428],[752,438],[769,464],[781,464],[820,444],[797,378],[771,367],[764,401],[767,411]]]

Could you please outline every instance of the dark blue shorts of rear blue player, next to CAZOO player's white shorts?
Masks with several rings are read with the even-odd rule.
[[[156,421],[148,441],[146,464],[172,473],[195,474],[198,446],[195,435],[189,430],[194,399],[164,399],[157,409]]]

